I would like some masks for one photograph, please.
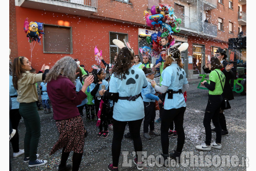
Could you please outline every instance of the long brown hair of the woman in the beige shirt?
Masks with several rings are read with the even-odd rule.
[[[26,72],[22,68],[24,56],[17,57],[13,60],[12,64],[12,83],[13,87],[18,90],[18,80],[22,78],[22,74]]]

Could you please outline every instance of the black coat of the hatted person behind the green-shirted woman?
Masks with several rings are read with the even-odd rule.
[[[222,62],[223,64],[223,74],[225,75],[226,77],[226,80],[225,80],[225,85],[223,87],[224,91],[223,91],[223,96],[225,97],[225,99],[227,100],[233,100],[234,99],[234,96],[233,96],[233,91],[232,91],[232,88],[231,88],[231,85],[230,85],[230,79],[233,78],[233,72],[232,70],[230,70],[229,72],[227,72],[227,70],[225,69],[227,64],[230,64],[229,62],[227,62],[226,60],[224,60]],[[203,70],[205,73],[210,73],[211,70],[209,70],[209,68],[204,68],[203,66]]]

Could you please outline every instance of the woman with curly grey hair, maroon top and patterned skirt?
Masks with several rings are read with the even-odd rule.
[[[52,147],[50,155],[62,149],[59,171],[68,171],[69,153],[73,151],[72,171],[78,171],[85,138],[83,120],[77,109],[82,100],[87,97],[85,90],[93,82],[93,76],[88,76],[81,91],[75,92],[75,72],[77,63],[69,56],[58,60],[46,76],[47,92],[52,102],[53,119],[60,133],[58,141]]]

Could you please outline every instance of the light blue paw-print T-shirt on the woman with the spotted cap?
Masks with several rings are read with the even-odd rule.
[[[185,71],[178,66],[178,64],[172,63],[167,66],[162,72],[161,84],[168,87],[168,90],[179,91],[182,89],[183,84],[187,84],[187,78]],[[178,109],[186,107],[185,99],[182,93],[173,94],[173,99],[168,99],[168,93],[164,99],[164,109]]]

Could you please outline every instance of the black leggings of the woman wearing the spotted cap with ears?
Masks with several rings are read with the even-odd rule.
[[[184,113],[186,107],[181,107],[178,109],[169,109],[165,110],[162,115],[161,120],[161,143],[162,143],[162,152],[164,155],[169,153],[169,136],[168,131],[170,127],[170,123],[174,121],[175,130],[178,134],[177,139],[177,152],[181,152],[185,142],[185,133],[183,128],[183,120],[184,120]]]

